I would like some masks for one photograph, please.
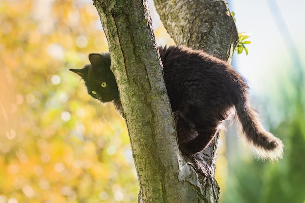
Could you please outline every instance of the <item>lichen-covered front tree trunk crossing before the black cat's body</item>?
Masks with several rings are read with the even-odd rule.
[[[139,202],[218,202],[219,188],[209,169],[214,158],[204,162],[203,154],[197,161],[178,149],[147,1],[93,1],[109,43],[140,184]],[[214,157],[215,148],[210,152]]]

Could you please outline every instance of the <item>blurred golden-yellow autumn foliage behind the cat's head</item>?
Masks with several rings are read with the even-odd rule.
[[[68,71],[108,50],[92,1],[0,0],[0,13],[0,203],[136,202],[124,120]]]

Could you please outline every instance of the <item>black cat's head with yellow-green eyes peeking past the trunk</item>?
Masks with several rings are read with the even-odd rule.
[[[91,64],[82,69],[69,69],[78,74],[85,81],[88,93],[101,102],[110,102],[119,99],[114,74],[110,70],[110,55],[90,54]]]

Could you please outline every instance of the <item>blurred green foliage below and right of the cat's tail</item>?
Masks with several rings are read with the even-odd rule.
[[[278,72],[273,74],[277,78],[277,91],[269,89],[266,84],[266,91],[272,98],[269,102],[273,104],[264,109],[265,112],[273,110],[269,112],[270,120],[272,116],[282,115],[280,119],[273,118],[280,120],[280,123],[276,126],[271,124],[270,131],[284,142],[284,158],[275,163],[255,159],[230,162],[226,191],[221,194],[221,203],[305,201],[305,69],[296,61],[286,64],[284,58],[281,60],[283,67],[277,67]],[[269,81],[270,84],[272,82]],[[279,112],[275,112],[275,109]]]

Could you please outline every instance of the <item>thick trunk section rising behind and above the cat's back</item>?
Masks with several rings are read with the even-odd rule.
[[[225,0],[154,0],[177,44],[229,61],[237,45],[235,22]]]

